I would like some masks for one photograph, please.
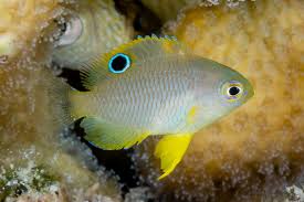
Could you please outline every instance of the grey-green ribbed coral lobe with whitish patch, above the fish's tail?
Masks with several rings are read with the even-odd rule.
[[[53,61],[61,66],[77,68],[130,40],[132,29],[112,0],[78,1],[65,12],[56,20],[61,33],[54,33]]]

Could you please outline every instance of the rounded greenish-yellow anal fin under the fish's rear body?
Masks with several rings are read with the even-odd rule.
[[[84,118],[81,127],[85,130],[86,136],[84,138],[87,141],[105,150],[129,148],[150,135],[93,117]]]

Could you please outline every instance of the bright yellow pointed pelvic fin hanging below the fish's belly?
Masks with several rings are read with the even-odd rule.
[[[191,138],[192,134],[169,135],[157,143],[154,155],[160,159],[160,167],[164,172],[158,180],[174,171],[184,157]]]

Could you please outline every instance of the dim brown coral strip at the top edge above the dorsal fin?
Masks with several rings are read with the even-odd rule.
[[[226,4],[229,8],[238,7],[245,0],[141,0],[145,6],[151,9],[164,22],[177,18],[181,10],[193,7],[211,7]],[[254,0],[252,0],[254,1]]]

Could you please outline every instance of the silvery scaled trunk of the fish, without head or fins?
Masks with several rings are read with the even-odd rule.
[[[209,87],[218,85],[212,82],[212,65],[219,64],[172,55],[135,65],[140,68],[106,79],[88,93],[72,94],[72,114],[77,118],[98,117],[151,135],[196,132],[218,118],[214,105],[221,107],[221,103],[214,102],[218,92]],[[196,117],[190,121],[188,116],[193,107]]]

